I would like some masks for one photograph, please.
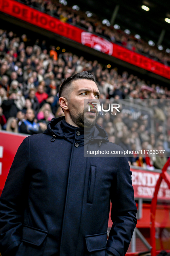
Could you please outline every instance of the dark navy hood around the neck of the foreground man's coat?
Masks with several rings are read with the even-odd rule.
[[[95,126],[92,128],[75,127],[66,122],[65,116],[52,118],[47,125],[47,130],[45,130],[43,133],[53,136],[54,139],[56,137],[62,137],[72,142],[77,131],[80,132],[79,140],[83,140],[83,143],[88,143],[89,140],[94,142],[108,141],[108,135],[106,131],[100,127],[100,125],[95,124]]]

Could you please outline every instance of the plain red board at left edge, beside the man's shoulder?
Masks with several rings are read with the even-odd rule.
[[[16,151],[26,137],[26,135],[0,131],[0,195]]]

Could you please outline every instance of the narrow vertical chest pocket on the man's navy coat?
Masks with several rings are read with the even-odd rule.
[[[89,174],[89,187],[87,193],[87,203],[93,203],[94,189],[95,189],[95,175],[96,175],[96,166],[91,166]]]

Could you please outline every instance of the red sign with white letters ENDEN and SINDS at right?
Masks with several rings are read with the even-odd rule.
[[[131,171],[135,198],[152,199],[160,173],[138,169],[131,169]],[[159,188],[158,199],[170,200],[170,190],[164,180]]]

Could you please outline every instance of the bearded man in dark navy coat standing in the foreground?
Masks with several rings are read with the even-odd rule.
[[[125,255],[137,212],[127,158],[83,156],[84,141],[121,150],[88,107],[99,98],[91,73],[68,77],[59,91],[65,116],[18,148],[0,200],[2,256]]]

